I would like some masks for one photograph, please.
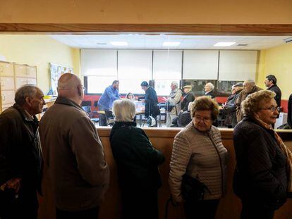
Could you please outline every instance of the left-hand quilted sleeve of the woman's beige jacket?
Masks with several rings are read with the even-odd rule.
[[[174,145],[171,154],[169,188],[175,201],[181,202],[181,180],[186,172],[192,151],[187,137],[184,134],[177,134],[174,138]]]

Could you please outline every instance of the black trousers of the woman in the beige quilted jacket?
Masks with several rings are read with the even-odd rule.
[[[219,199],[205,201],[185,201],[186,219],[214,219]]]

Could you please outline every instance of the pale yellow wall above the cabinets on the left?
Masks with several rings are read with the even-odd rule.
[[[45,35],[0,35],[0,56],[6,61],[37,65],[37,85],[47,94],[49,63],[73,67],[79,75],[79,49],[72,49]]]

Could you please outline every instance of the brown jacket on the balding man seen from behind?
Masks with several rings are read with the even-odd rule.
[[[56,207],[81,211],[102,203],[109,168],[95,125],[75,102],[58,97],[39,122]]]

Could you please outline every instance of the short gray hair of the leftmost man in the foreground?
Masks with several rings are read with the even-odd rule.
[[[25,104],[25,98],[34,97],[37,94],[37,90],[40,89],[35,85],[23,85],[17,89],[14,101],[19,106],[23,106]]]

